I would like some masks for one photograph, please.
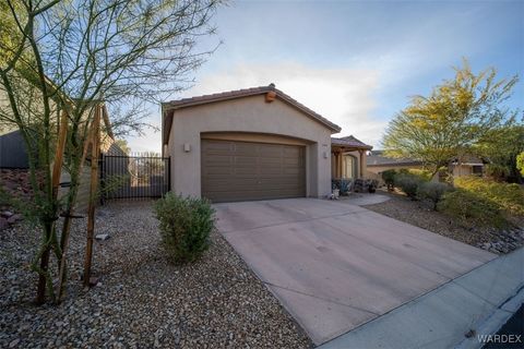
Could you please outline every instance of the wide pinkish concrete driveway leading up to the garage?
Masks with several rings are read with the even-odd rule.
[[[343,202],[214,206],[218,230],[317,345],[495,257]]]

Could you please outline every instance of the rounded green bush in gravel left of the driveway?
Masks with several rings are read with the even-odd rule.
[[[156,202],[162,242],[176,263],[195,261],[209,249],[214,213],[205,198],[167,193]]]

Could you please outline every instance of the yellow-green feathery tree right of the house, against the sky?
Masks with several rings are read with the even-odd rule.
[[[472,147],[491,130],[512,124],[516,112],[504,101],[517,76],[497,80],[493,68],[475,74],[464,60],[453,80],[433,88],[429,97],[415,96],[390,122],[383,137],[386,154],[421,160],[433,174]]]

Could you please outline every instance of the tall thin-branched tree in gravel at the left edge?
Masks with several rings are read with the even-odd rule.
[[[144,125],[143,106],[187,87],[190,74],[212,52],[196,51],[213,33],[216,0],[2,0],[0,124],[15,125],[29,154],[34,214],[41,227],[33,268],[39,275],[37,302],[60,298],[63,266],[82,155],[103,103],[121,133]],[[8,37],[9,39],[5,39]],[[64,169],[71,182],[59,200],[52,185],[59,120],[68,125]],[[57,231],[57,219],[64,216]]]

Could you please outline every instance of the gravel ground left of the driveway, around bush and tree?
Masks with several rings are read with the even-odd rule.
[[[151,202],[97,210],[94,274],[79,281],[85,219],[70,248],[62,304],[35,306],[28,273],[38,233],[23,224],[0,231],[0,348],[310,348],[312,344],[217,233],[195,264],[167,262]]]

